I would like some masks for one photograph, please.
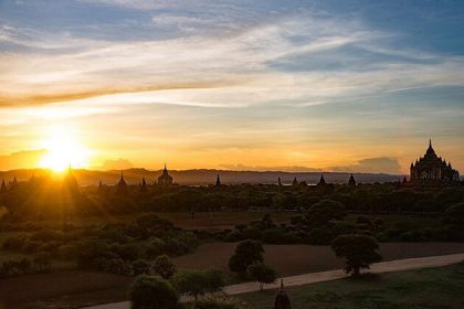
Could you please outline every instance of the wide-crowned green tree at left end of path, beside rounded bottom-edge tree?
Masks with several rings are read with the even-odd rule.
[[[190,294],[196,302],[200,295],[218,291],[224,285],[224,276],[217,269],[182,270],[171,280],[178,292]]]

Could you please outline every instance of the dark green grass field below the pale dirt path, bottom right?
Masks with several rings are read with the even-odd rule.
[[[363,279],[287,288],[293,309],[462,309],[464,263],[440,268],[386,273]],[[275,291],[239,296],[246,309],[274,308]]]

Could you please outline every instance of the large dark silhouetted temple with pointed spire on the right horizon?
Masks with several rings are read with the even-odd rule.
[[[424,157],[411,163],[410,183],[413,185],[451,185],[460,183],[460,173],[454,170],[451,162],[439,156],[429,142]]]

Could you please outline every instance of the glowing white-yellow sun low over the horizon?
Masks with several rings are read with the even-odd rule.
[[[53,128],[41,142],[46,150],[40,167],[63,172],[66,168],[87,168],[91,151],[78,140],[77,135],[67,128]]]

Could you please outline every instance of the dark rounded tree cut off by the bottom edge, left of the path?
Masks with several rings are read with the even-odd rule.
[[[155,276],[137,277],[129,288],[131,309],[176,309],[178,296],[172,286]]]

